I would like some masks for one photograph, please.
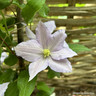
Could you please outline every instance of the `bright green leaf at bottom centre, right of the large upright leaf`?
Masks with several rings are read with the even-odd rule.
[[[44,82],[38,82],[37,89],[40,91],[44,91],[48,95],[51,95],[54,91],[54,88],[49,88]]]

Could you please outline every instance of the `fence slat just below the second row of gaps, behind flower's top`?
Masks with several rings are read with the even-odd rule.
[[[40,19],[39,19],[40,20]],[[41,19],[46,22],[49,20],[54,20],[56,22],[56,26],[96,26],[96,18],[89,19]],[[37,19],[35,22],[38,21]]]

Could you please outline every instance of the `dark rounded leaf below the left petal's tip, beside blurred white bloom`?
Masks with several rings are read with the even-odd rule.
[[[9,56],[4,60],[4,63],[6,65],[13,66],[17,63],[17,61],[18,58],[14,54],[9,53]]]

